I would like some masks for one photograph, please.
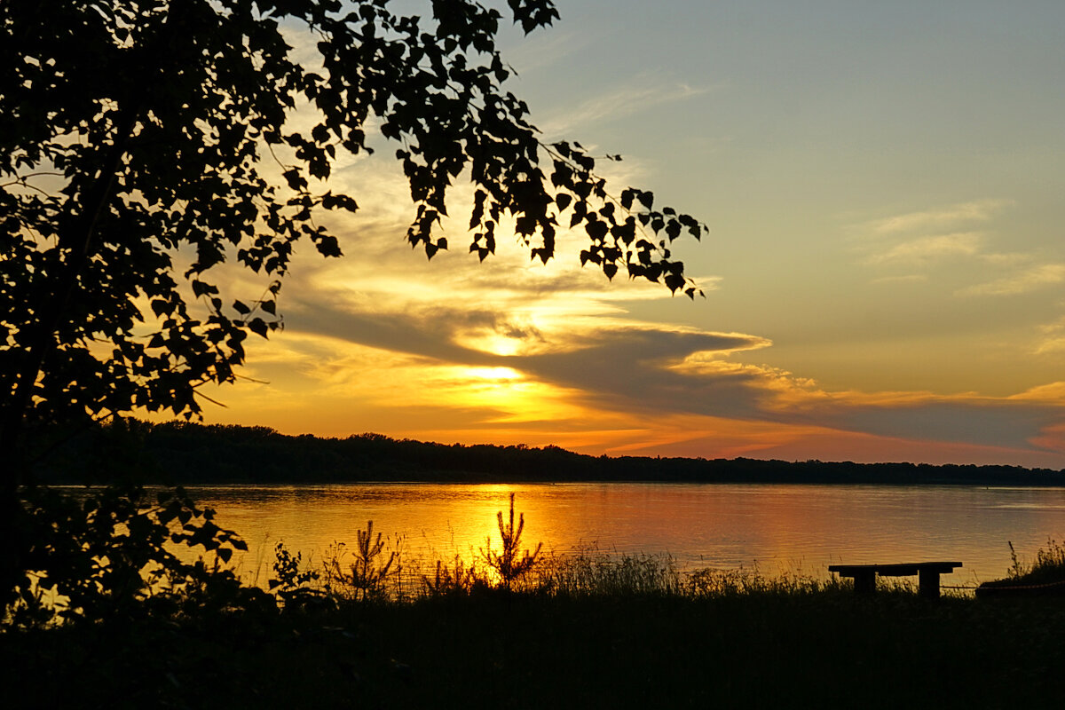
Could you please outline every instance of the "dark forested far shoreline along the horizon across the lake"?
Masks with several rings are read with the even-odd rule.
[[[321,439],[268,427],[126,419],[68,437],[47,482],[337,483],[354,481],[925,483],[1065,485],[1065,470],[913,463],[593,457],[557,446],[436,444],[381,434]]]

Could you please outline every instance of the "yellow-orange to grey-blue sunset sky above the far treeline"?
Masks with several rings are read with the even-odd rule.
[[[557,5],[504,33],[510,90],[545,141],[623,154],[616,192],[709,225],[676,250],[706,298],[583,269],[579,234],[478,264],[462,184],[427,263],[380,139],[334,174],[345,258],[305,249],[208,423],[1065,467],[1065,3]]]

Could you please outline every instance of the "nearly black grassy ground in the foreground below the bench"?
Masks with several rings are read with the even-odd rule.
[[[491,593],[0,634],[7,708],[1065,707],[1065,599]]]

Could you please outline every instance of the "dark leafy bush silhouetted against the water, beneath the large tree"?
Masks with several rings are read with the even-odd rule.
[[[13,526],[18,574],[5,594],[0,628],[174,617],[216,610],[274,608],[273,597],[227,568],[247,545],[214,523],[180,489],[149,494],[136,485],[46,488],[23,492]],[[193,550],[179,555],[182,549]],[[196,555],[198,550],[198,555]]]

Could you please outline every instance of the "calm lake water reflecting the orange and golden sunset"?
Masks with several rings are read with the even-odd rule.
[[[1005,574],[1007,542],[1023,559],[1048,539],[1065,539],[1062,489],[391,483],[192,491],[248,542],[242,574],[252,579],[258,571],[260,580],[277,541],[321,559],[332,543],[353,547],[368,519],[407,561],[470,559],[490,535],[497,548],[495,514],[511,492],[530,546],[669,552],[689,568],[757,564],[767,574],[826,577],[837,562],[956,560],[965,567],[944,583],[972,584]]]

